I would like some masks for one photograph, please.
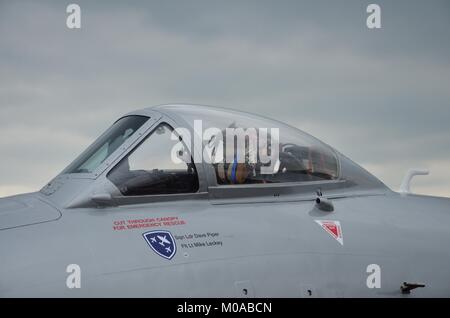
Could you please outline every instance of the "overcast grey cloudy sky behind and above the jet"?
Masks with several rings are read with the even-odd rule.
[[[39,190],[118,117],[167,103],[287,122],[393,190],[426,168],[412,190],[450,197],[449,34],[445,0],[0,0],[0,197]]]

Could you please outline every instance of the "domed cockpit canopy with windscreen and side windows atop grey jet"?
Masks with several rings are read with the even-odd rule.
[[[124,198],[213,189],[217,194],[217,189],[240,187],[253,187],[250,193],[257,195],[272,185],[295,187],[294,192],[304,185],[335,190],[384,187],[330,146],[289,125],[189,105],[157,106],[122,117],[61,176],[94,180],[110,189],[108,195]]]

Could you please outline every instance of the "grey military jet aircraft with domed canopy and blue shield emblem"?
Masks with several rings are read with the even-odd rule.
[[[138,110],[0,200],[0,296],[448,297],[450,199],[420,173],[398,193],[275,120]]]

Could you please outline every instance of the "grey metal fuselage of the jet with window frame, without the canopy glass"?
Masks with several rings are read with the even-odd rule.
[[[337,180],[218,185],[202,163],[196,193],[121,196],[106,177],[119,160],[159,123],[191,127],[184,112],[204,108],[134,112],[151,120],[95,172],[0,199],[0,296],[450,296],[450,199],[393,192],[338,152]],[[318,188],[333,211],[318,208]],[[143,238],[153,230],[172,235],[170,259]],[[404,282],[425,287],[402,293]]]

